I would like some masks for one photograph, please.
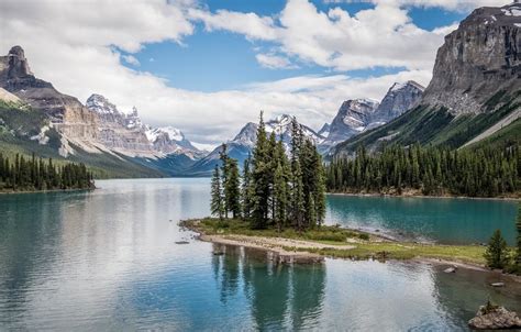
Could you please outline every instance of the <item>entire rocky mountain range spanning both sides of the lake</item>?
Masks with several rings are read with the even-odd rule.
[[[519,142],[521,124],[521,4],[479,8],[445,37],[426,88],[393,84],[380,101],[344,101],[320,131],[300,124],[326,158],[351,156],[359,145],[447,145],[454,148]],[[266,122],[288,148],[292,117]],[[257,124],[228,141],[240,165],[253,152]],[[0,56],[2,151],[84,162],[98,176],[208,176],[221,146],[198,150],[173,126],[144,124],[93,93],[85,104],[31,71],[22,47]]]

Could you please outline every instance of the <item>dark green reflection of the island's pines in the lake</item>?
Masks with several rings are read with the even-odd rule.
[[[277,264],[266,253],[218,244],[213,252],[225,253],[212,258],[221,302],[228,303],[242,288],[258,330],[300,330],[318,323],[325,265]]]

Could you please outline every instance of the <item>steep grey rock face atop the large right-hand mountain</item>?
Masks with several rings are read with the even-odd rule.
[[[445,36],[421,103],[479,113],[498,91],[521,89],[521,3],[479,8]]]

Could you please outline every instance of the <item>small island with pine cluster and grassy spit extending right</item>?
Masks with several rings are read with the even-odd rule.
[[[324,257],[422,259],[519,273],[521,250],[507,247],[499,231],[488,246],[442,245],[323,224],[326,171],[295,119],[291,131],[291,144],[285,148],[275,133],[267,135],[260,113],[258,140],[242,177],[237,162],[222,146],[221,167],[215,166],[211,184],[214,218],[185,220],[180,225],[200,233],[203,241],[267,251],[280,263],[315,263]]]

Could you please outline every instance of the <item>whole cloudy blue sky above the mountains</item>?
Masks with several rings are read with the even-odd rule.
[[[315,130],[342,101],[428,86],[472,10],[509,0],[2,0],[0,49],[81,102],[100,93],[199,147],[260,110]]]

